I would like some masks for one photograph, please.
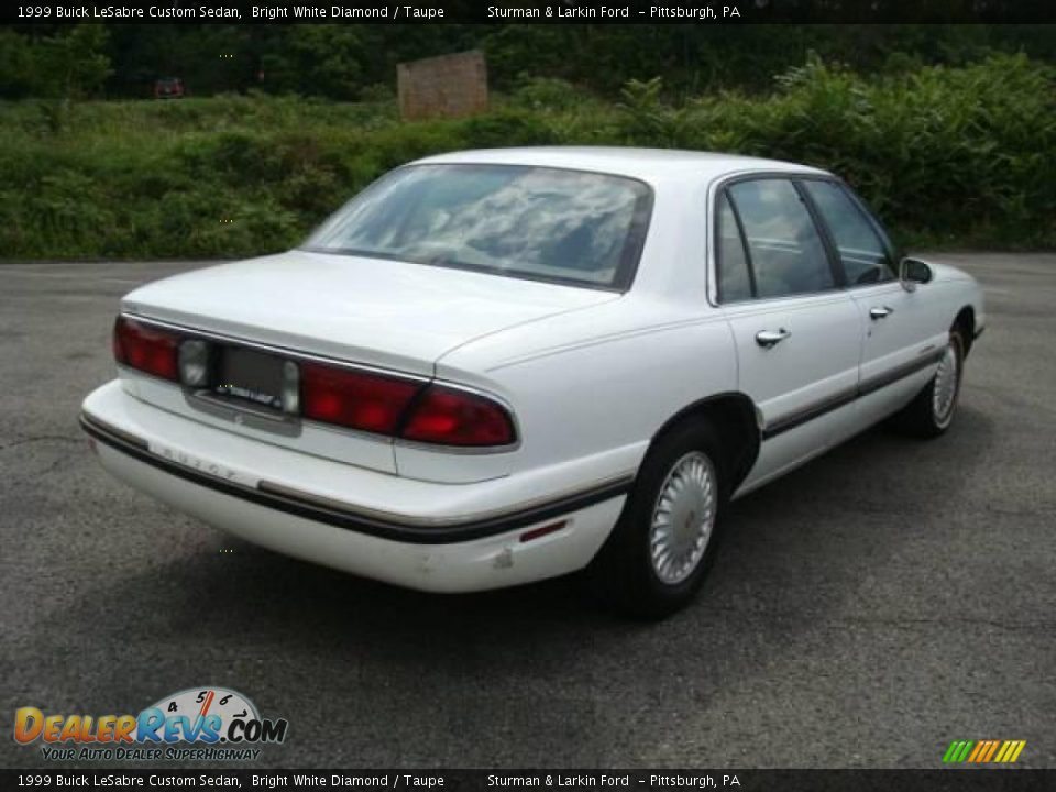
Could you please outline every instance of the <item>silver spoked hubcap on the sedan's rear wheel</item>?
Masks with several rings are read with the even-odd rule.
[[[669,585],[686,580],[704,558],[715,525],[715,468],[700,451],[674,463],[657,497],[649,529],[649,558]]]

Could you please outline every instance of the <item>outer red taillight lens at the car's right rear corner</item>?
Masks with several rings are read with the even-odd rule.
[[[415,403],[400,437],[442,446],[508,446],[514,422],[484,396],[431,385]]]

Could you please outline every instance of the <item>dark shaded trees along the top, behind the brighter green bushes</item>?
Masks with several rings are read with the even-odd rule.
[[[468,3],[460,0],[454,4]],[[107,94],[124,98],[150,97],[155,79],[177,76],[193,96],[257,88],[276,95],[381,99],[380,86],[395,90],[397,63],[471,48],[484,51],[491,85],[504,92],[519,89],[528,74],[564,80],[613,99],[629,80],[663,75],[668,98],[680,101],[719,90],[768,91],[772,75],[802,64],[811,50],[826,62],[889,74],[926,65],[964,66],[996,52],[1024,52],[1033,58],[1056,61],[1056,34],[1050,25],[268,23],[84,28],[89,32],[78,35],[105,38],[99,46],[92,45],[92,52],[109,61]],[[69,30],[26,24],[0,31],[0,97],[42,96],[44,87],[38,84],[63,74],[68,63],[65,45],[50,52],[47,42],[63,38]],[[100,87],[95,81],[99,72],[96,67],[90,70],[94,92]],[[561,100],[553,91],[548,91],[548,98]],[[549,100],[542,106],[560,109],[560,103]]]

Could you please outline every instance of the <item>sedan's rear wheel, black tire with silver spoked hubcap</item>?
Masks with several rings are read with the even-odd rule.
[[[718,435],[702,420],[680,424],[653,443],[587,570],[606,604],[628,616],[660,619],[693,598],[718,547],[718,517],[727,501],[722,460]]]

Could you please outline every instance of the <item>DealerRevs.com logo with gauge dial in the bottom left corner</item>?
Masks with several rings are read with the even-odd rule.
[[[216,686],[174,693],[139,715],[14,713],[14,741],[40,741],[42,758],[54,761],[246,761],[288,730],[285,718],[262,718],[248,697]]]

